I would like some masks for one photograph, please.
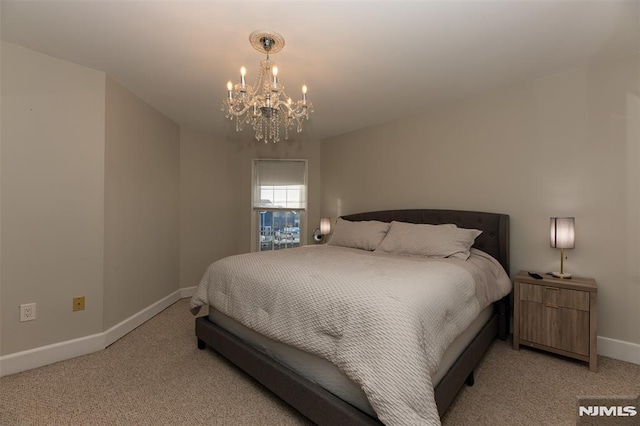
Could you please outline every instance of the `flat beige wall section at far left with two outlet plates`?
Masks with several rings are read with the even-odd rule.
[[[3,355],[102,331],[105,74],[2,42],[1,85]]]

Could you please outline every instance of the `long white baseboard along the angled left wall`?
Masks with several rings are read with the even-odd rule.
[[[0,357],[0,377],[100,351],[178,300],[191,297],[195,289],[196,287],[178,289],[103,333],[2,356]]]

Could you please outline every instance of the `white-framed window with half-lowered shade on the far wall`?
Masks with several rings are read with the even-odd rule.
[[[257,251],[305,243],[306,160],[253,160],[253,247]]]

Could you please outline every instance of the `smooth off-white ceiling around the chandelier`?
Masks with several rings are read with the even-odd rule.
[[[416,114],[502,86],[640,53],[640,1],[5,1],[2,39],[101,70],[176,123],[230,136],[226,82],[263,55],[303,83],[313,138]],[[251,132],[245,131],[248,137]]]

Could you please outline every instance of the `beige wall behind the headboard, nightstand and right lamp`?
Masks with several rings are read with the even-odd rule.
[[[640,59],[594,64],[322,141],[321,214],[511,215],[511,265],[559,268],[551,216],[575,216],[565,268],[599,285],[600,336],[640,344]]]

